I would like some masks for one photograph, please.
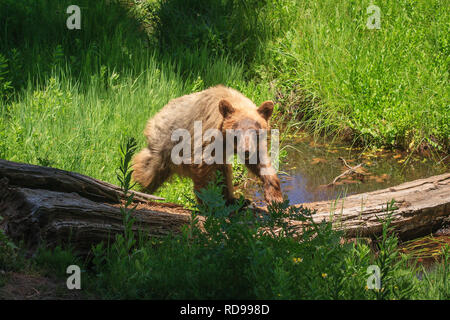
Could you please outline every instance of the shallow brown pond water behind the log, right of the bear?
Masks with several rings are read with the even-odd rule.
[[[278,175],[283,194],[291,204],[336,199],[448,171],[443,163],[436,165],[436,161],[399,151],[369,152],[345,145],[315,143],[309,138],[289,145],[288,155],[280,161]],[[339,157],[352,167],[362,163],[363,170],[358,176],[345,176],[336,185],[326,187],[348,169]],[[257,203],[264,199],[257,183],[246,186],[244,193]]]

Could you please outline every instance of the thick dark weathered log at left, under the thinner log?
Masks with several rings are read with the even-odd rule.
[[[8,186],[0,180],[0,226],[14,240],[34,249],[44,241],[54,247],[68,243],[86,254],[101,241],[123,233],[123,216],[118,204],[96,202],[76,192],[57,192]],[[133,213],[134,231],[149,236],[178,232],[189,223],[190,213],[176,204],[146,201]]]

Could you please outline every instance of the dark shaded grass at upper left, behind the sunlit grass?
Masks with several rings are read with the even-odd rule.
[[[204,71],[206,59],[226,57],[226,63],[238,65],[253,61],[271,35],[267,1],[121,2],[77,1],[81,30],[69,30],[69,0],[2,1],[0,54],[7,59],[6,80],[16,90],[55,75],[88,85],[102,68],[138,75],[151,57],[191,78]],[[143,24],[151,26],[148,34]]]

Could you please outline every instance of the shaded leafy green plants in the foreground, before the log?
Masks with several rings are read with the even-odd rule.
[[[128,140],[121,149],[117,178],[124,194],[134,147]],[[269,206],[266,215],[255,215],[243,207],[243,198],[227,205],[222,187],[210,183],[198,194],[203,203],[194,205],[191,223],[181,233],[157,238],[133,233],[129,195],[121,207],[124,235],[93,247],[89,261],[83,263],[70,248],[57,246],[40,248],[25,267],[65,278],[67,266],[77,264],[86,271],[83,293],[104,299],[449,298],[448,246],[442,248],[437,270],[423,270],[419,280],[418,268],[408,265],[408,256],[398,250],[390,224],[392,204],[373,243],[374,255],[363,239],[343,241],[343,231],[333,230],[331,222],[315,223],[309,209],[285,202]],[[286,219],[300,222],[302,232],[299,224]],[[0,269],[15,270],[23,262],[7,247],[8,240],[0,237]],[[380,268],[380,287],[369,288],[368,270],[374,265]],[[0,275],[0,286],[2,281],[7,276]]]

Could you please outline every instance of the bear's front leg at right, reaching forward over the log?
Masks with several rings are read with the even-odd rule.
[[[280,179],[270,165],[247,164],[247,168],[263,182],[264,199],[267,203],[283,202]]]

